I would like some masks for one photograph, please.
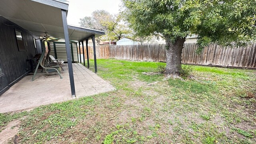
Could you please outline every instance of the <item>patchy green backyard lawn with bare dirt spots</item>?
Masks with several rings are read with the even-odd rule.
[[[19,119],[18,143],[256,143],[256,70],[192,66],[186,80],[164,80],[143,72],[165,63],[97,63],[115,91],[0,114],[0,130]]]

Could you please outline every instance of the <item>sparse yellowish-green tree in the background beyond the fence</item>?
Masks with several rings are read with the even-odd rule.
[[[113,16],[105,10],[96,10],[92,12],[92,16],[80,18],[79,22],[80,26],[102,30],[106,33],[106,35],[98,38],[98,44],[100,40],[120,40],[121,38],[128,36],[130,34],[130,29],[121,23],[121,14]]]

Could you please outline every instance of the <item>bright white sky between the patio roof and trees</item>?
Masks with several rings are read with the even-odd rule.
[[[121,7],[121,0],[68,0],[68,24],[79,26],[80,18],[91,16],[95,10],[106,10],[110,14],[117,14]]]

